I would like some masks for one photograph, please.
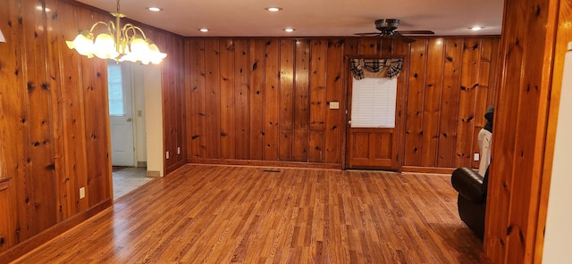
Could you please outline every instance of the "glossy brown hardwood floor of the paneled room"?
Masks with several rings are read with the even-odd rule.
[[[15,263],[478,263],[447,175],[185,165]]]

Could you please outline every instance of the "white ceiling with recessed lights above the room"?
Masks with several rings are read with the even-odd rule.
[[[78,0],[109,12],[116,0]],[[184,37],[316,37],[376,32],[377,19],[400,19],[399,30],[437,36],[500,35],[502,0],[122,0],[134,21]],[[157,6],[162,12],[149,12]],[[281,12],[265,7],[279,6]],[[469,30],[475,25],[480,31]],[[90,25],[86,25],[88,27]],[[198,29],[210,29],[202,33]],[[292,33],[285,28],[296,29]]]

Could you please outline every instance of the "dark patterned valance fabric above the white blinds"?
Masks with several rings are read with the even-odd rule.
[[[396,78],[403,69],[403,59],[351,59],[350,67],[356,79]]]

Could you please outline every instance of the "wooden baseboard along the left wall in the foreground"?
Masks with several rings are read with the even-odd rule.
[[[113,201],[107,199],[105,201],[97,203],[95,206],[80,212],[69,219],[65,219],[62,222],[55,224],[54,227],[49,227],[38,235],[34,235],[29,239],[18,243],[13,246],[13,248],[7,250],[6,252],[0,253],[0,263],[10,263],[23,256],[24,254],[33,251],[38,248],[38,246],[52,240],[55,236],[62,235],[64,232],[70,230],[73,227],[78,226],[83,221],[97,215],[97,213],[110,208]]]

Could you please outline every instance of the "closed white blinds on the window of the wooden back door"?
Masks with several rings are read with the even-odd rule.
[[[352,79],[351,128],[395,128],[397,78]]]

